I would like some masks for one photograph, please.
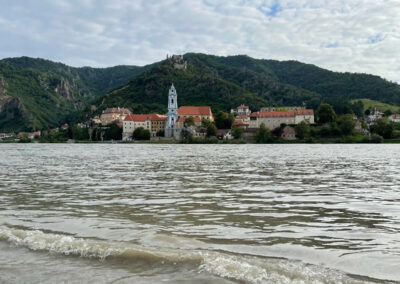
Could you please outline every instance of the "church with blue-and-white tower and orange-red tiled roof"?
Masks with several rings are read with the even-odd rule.
[[[203,119],[214,121],[214,117],[209,106],[181,106],[178,108],[178,94],[171,85],[168,93],[168,118],[165,128],[165,137],[181,139],[183,123],[186,118],[193,117],[195,126],[200,127]]]

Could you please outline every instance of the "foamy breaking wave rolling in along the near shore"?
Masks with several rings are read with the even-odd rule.
[[[154,263],[191,264],[199,271],[247,283],[365,283],[337,270],[298,261],[235,255],[204,249],[171,249],[140,246],[22,230],[0,226],[0,240],[34,251],[96,258],[122,258]]]

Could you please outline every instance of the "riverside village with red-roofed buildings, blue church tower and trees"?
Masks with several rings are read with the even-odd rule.
[[[210,106],[178,107],[178,92],[173,84],[166,101],[168,112],[165,114],[137,114],[124,107],[106,108],[100,115],[71,127],[63,124],[44,131],[0,133],[0,141],[201,143],[214,139],[214,142],[265,143],[309,141],[317,137],[340,142],[332,139],[340,135],[358,135],[359,142],[382,142],[377,137],[393,138],[400,123],[400,114],[388,115],[377,109],[368,112],[364,119],[354,113],[337,118],[327,104],[321,104],[317,110],[321,112],[318,121],[314,110],[304,106],[268,106],[252,112],[249,106],[241,104],[230,113],[218,111],[214,115]]]

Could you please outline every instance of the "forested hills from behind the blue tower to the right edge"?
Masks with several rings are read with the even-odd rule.
[[[166,112],[171,82],[180,105],[210,105],[213,111],[248,104],[302,105],[328,102],[340,112],[350,100],[371,98],[400,105],[400,86],[367,74],[338,73],[296,61],[259,60],[188,53],[185,71],[159,65],[97,102],[100,108],[124,104],[135,112]]]

